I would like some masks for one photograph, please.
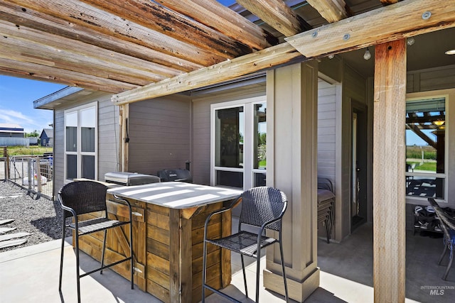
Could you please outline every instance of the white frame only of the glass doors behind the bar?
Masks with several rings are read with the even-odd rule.
[[[254,104],[266,103],[266,96],[251,97],[246,99],[238,99],[235,101],[226,101],[216,104],[210,104],[210,184],[215,185],[216,170],[230,171],[230,172],[243,172],[243,188],[248,189],[254,184],[254,173],[262,172],[267,173],[267,170],[253,169],[253,129],[252,123],[246,123],[247,120],[253,121],[255,116]],[[243,138],[243,168],[236,167],[219,167],[215,166],[215,111],[219,109],[230,109],[232,107],[243,106],[245,113],[245,136]],[[246,165],[245,165],[246,163]],[[248,173],[245,173],[248,172]]]

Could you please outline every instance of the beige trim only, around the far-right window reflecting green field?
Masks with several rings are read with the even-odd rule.
[[[444,174],[441,173],[420,173],[420,172],[414,172],[414,173],[409,173],[406,172],[406,176],[415,176],[415,177],[437,177],[437,178],[444,178],[444,199],[437,199],[437,202],[443,202],[443,203],[448,203],[448,194],[449,194],[449,141],[447,140],[449,138],[449,132],[450,132],[450,121],[449,121],[449,94],[440,94],[438,92],[417,92],[417,93],[412,93],[408,94],[407,96],[412,96],[412,97],[407,97],[406,101],[415,101],[415,100],[423,100],[423,99],[432,99],[432,98],[445,98],[446,100],[446,117],[445,117],[445,145],[444,145]],[[406,196],[406,201],[407,202],[423,202],[427,201],[427,197],[417,197],[417,196]]]

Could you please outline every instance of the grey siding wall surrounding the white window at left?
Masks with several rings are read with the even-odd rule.
[[[54,196],[65,184],[65,110],[97,101],[98,106],[98,180],[104,181],[106,172],[117,170],[119,138],[119,106],[111,101],[112,94],[97,92],[83,99],[64,102],[54,111]]]

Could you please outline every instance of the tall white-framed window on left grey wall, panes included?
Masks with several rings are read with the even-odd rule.
[[[65,180],[97,180],[97,102],[65,111]]]

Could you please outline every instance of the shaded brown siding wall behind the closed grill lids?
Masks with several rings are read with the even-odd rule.
[[[129,172],[185,168],[191,161],[191,108],[183,95],[129,104]]]

